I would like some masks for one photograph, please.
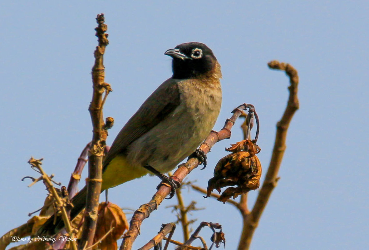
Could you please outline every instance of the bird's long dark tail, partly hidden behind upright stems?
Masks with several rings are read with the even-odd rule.
[[[70,211],[70,221],[72,221],[86,206],[86,195],[87,188],[86,186],[82,188],[70,201],[73,204],[73,208]],[[52,215],[42,226],[38,229],[38,236],[52,236],[58,233],[60,230],[64,228],[64,222],[61,216],[56,218],[56,222],[54,224],[54,215]]]

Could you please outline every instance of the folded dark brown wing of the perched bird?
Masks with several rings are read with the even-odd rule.
[[[164,120],[179,103],[177,81],[169,78],[146,99],[118,133],[104,159],[103,169],[118,153],[124,153],[132,142]]]

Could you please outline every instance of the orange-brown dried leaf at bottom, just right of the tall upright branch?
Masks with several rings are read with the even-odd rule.
[[[101,250],[116,250],[117,240],[128,229],[128,222],[122,209],[111,202],[101,202],[98,211],[99,218],[97,219],[96,232],[94,242],[100,240],[106,233],[114,228],[105,239],[101,240]]]

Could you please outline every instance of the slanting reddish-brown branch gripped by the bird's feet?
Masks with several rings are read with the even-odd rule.
[[[223,128],[219,132],[211,131],[210,135],[200,145],[200,149],[203,150],[205,154],[207,154],[215,143],[220,140],[230,138],[232,126],[234,125],[239,115],[241,115],[242,111],[246,110],[247,108],[254,108],[254,106],[250,104],[242,104],[234,111],[232,111],[232,117],[230,119],[227,119]],[[185,164],[179,165],[178,169],[173,174],[173,178],[176,178],[177,181],[182,182],[184,177],[186,177],[187,174],[189,174],[197,166],[199,166],[199,159],[195,157],[190,158]],[[134,212],[130,222],[130,228],[123,238],[120,250],[130,250],[132,248],[132,244],[139,234],[142,221],[144,221],[145,218],[148,218],[151,212],[158,208],[158,206],[169,193],[170,187],[166,185],[161,185],[159,190],[152,197],[151,201],[142,205]]]

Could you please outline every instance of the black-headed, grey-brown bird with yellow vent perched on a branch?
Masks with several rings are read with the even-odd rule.
[[[200,42],[187,42],[168,49],[173,75],[139,107],[118,133],[103,159],[101,192],[127,181],[174,169],[195,152],[213,128],[221,108],[222,77],[213,51]],[[203,152],[202,152],[203,153]],[[86,186],[72,199],[71,219],[86,205]],[[64,227],[54,215],[38,235],[55,235]]]

